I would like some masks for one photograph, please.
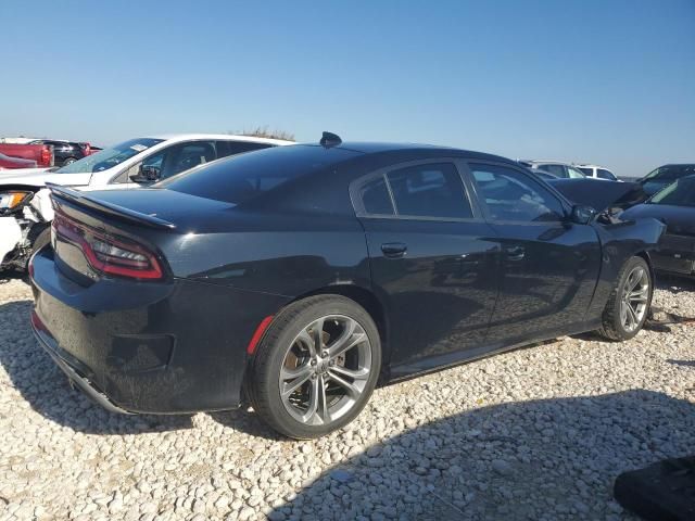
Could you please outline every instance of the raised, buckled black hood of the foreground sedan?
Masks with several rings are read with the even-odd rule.
[[[592,206],[597,212],[628,208],[647,200],[637,182],[602,182],[597,179],[553,179],[547,182],[569,201]]]

